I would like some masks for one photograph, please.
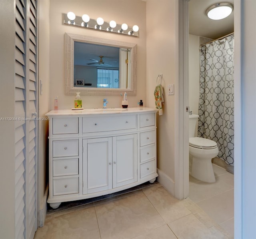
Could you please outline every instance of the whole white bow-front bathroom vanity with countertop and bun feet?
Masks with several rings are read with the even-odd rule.
[[[154,108],[56,110],[49,121],[49,197],[61,202],[153,183]]]

